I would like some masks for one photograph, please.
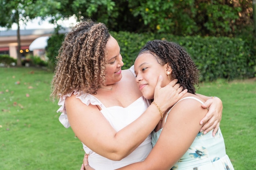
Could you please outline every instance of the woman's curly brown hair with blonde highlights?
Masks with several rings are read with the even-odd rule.
[[[110,34],[103,23],[85,20],[73,27],[59,49],[51,97],[84,91],[97,93],[106,82],[106,44]]]

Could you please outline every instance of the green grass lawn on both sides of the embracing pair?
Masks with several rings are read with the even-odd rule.
[[[82,144],[58,121],[49,99],[52,73],[0,68],[0,170],[79,170]],[[256,169],[256,80],[200,85],[223,102],[221,129],[236,170]]]

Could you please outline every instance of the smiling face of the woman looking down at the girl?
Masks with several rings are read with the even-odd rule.
[[[122,78],[121,67],[124,65],[123,58],[120,54],[120,47],[117,40],[110,36],[106,44],[106,51],[108,53],[106,57],[106,84],[114,84],[119,82]]]

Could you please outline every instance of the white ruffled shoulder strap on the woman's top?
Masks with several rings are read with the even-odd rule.
[[[93,95],[91,95],[89,93],[85,93],[83,91],[73,91],[72,93],[74,93],[74,95],[76,95],[76,98],[80,99],[81,102],[83,102],[87,106],[89,104],[92,104],[92,105],[99,105],[101,108],[106,108],[96,97],[94,97]],[[58,119],[61,122],[61,124],[63,124],[63,126],[65,126],[65,128],[70,127],[70,123],[67,119],[67,111],[65,108],[65,99],[67,97],[70,97],[72,95],[72,93],[68,93],[67,95],[61,96],[58,101],[58,105],[61,106],[57,110],[57,112],[61,112],[61,115]]]

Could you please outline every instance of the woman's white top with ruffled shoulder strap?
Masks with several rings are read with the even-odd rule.
[[[132,69],[130,69],[132,72]],[[57,112],[61,112],[59,117],[59,121],[63,126],[68,128],[70,126],[67,113],[65,109],[65,99],[67,96],[71,96],[72,93],[62,96],[58,102],[58,105],[61,107],[57,110]],[[139,97],[135,102],[123,108],[121,106],[112,106],[106,108],[96,97],[90,95],[88,93],[74,91],[74,95],[76,98],[80,99],[86,105],[99,105],[101,107],[101,113],[106,119],[109,121],[111,126],[116,130],[119,131],[128,124],[132,123],[135,119],[137,119],[150,105],[150,102],[145,99],[144,97]],[[127,139],[129,140],[129,139]],[[93,152],[83,144],[83,149],[89,156],[89,164],[95,170],[114,170],[117,168],[121,168],[131,163],[135,163],[138,161],[143,161],[146,159],[150,151],[152,150],[151,144],[151,134],[146,138],[146,140],[139,145],[130,155],[122,159],[121,161],[112,161],[97,153]]]

